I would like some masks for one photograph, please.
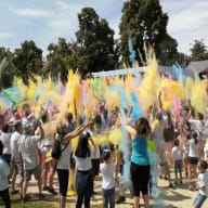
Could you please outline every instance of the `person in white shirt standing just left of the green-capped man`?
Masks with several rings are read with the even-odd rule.
[[[14,188],[15,186],[15,181],[16,181],[16,176],[17,173],[21,176],[20,179],[20,194],[21,196],[23,195],[23,166],[21,164],[21,159],[20,159],[20,153],[18,153],[18,146],[20,146],[20,139],[21,135],[23,133],[23,126],[21,121],[16,121],[14,123],[14,129],[15,131],[12,133],[11,136],[11,160],[12,160],[12,190],[11,190],[11,194],[16,194],[18,193],[17,190]]]

